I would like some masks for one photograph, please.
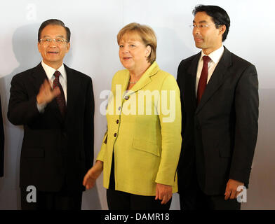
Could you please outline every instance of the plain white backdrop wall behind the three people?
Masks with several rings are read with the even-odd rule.
[[[260,82],[259,136],[250,176],[247,203],[242,209],[275,209],[274,123],[274,0],[10,0],[0,3],[0,94],[4,117],[5,172],[0,178],[0,209],[20,209],[19,160],[22,127],[6,118],[11,78],[41,61],[37,32],[41,22],[58,18],[72,31],[65,63],[93,78],[95,94],[95,158],[106,128],[100,114],[102,90],[109,90],[114,73],[122,69],[116,34],[130,22],[151,26],[158,38],[156,61],[176,77],[182,59],[194,55],[192,9],[199,3],[221,6],[231,19],[224,45],[257,67]],[[83,193],[83,209],[107,209],[102,176]],[[171,209],[179,209],[173,195]]]

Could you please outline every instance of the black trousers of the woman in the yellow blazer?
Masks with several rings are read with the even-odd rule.
[[[172,199],[166,204],[155,200],[155,196],[142,196],[107,189],[109,210],[169,210]]]

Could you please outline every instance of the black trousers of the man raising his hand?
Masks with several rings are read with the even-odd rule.
[[[36,191],[36,202],[27,202],[29,192],[21,188],[22,210],[81,210],[82,191],[69,191],[62,188],[59,192]]]

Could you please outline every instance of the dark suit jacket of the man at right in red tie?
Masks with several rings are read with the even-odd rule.
[[[248,186],[257,141],[257,71],[253,64],[224,48],[196,106],[200,57],[201,52],[182,60],[177,71],[182,100],[179,191],[192,187],[196,170],[204,193],[223,195],[229,179]]]

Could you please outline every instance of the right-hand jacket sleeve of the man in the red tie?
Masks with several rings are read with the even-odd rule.
[[[243,71],[235,94],[235,142],[229,179],[248,184],[258,130],[258,80],[255,66]]]

